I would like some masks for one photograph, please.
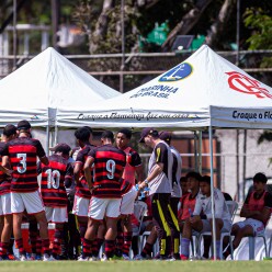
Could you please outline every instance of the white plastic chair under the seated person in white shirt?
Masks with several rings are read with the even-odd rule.
[[[231,224],[233,224],[236,211],[238,208],[238,203],[236,201],[226,201],[226,204],[228,206],[228,212],[230,214]],[[199,234],[199,237],[196,239],[197,240],[196,252],[199,256],[201,256],[201,241],[202,241],[203,236],[212,236],[212,231],[204,231],[204,233]],[[223,240],[225,237],[228,237],[228,239],[229,239],[230,257],[234,260],[234,247],[233,247],[231,229],[229,231],[222,231],[220,233],[220,254],[219,254],[219,258],[223,259]]]

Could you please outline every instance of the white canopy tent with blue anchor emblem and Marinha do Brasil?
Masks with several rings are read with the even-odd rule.
[[[204,45],[182,64],[154,80],[95,107],[78,106],[75,112],[59,109],[57,124],[208,128],[213,195],[212,129],[272,128],[272,88]],[[215,228],[213,233],[216,252]]]

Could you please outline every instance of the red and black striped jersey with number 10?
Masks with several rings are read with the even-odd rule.
[[[47,207],[66,206],[68,199],[65,182],[71,182],[72,166],[59,155],[54,154],[48,159],[48,166],[41,162],[37,166],[37,173],[42,173],[41,193],[44,205]]]

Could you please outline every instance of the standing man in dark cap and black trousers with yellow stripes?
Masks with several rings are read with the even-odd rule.
[[[172,191],[173,157],[169,145],[159,138],[158,131],[144,128],[139,143],[154,148],[148,163],[148,175],[139,184],[139,189],[149,186],[151,196],[152,220],[160,243],[160,259],[171,253],[171,231],[168,225],[170,197]]]

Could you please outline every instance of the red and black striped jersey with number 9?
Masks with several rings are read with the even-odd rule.
[[[126,165],[126,154],[112,146],[103,145],[92,149],[89,156],[94,159],[93,195],[101,199],[121,197],[121,178]]]

